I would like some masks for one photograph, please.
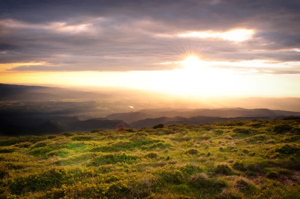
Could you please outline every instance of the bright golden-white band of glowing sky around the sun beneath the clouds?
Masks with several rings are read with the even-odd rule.
[[[263,61],[239,62],[243,64],[268,64]],[[6,69],[16,65],[46,64],[14,63],[2,64]],[[164,64],[173,64],[166,62]],[[211,65],[229,64],[227,62],[208,62],[195,55],[177,61],[181,67],[172,70],[128,71],[128,72],[18,72],[0,73],[2,83],[40,83],[71,86],[125,86],[170,94],[187,94],[205,97],[243,97],[243,96],[297,96],[300,89],[299,75],[250,74],[236,72],[230,68],[214,68]],[[231,63],[234,65],[234,63]],[[248,74],[248,72],[246,72]]]

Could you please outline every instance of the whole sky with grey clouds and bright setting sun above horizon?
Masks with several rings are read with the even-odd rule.
[[[300,97],[300,1],[0,0],[0,82]]]

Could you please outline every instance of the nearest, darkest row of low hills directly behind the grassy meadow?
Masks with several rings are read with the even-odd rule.
[[[293,112],[295,113],[295,112]],[[131,112],[128,113],[128,115]],[[78,116],[54,116],[48,118],[21,117],[19,114],[1,114],[0,113],[0,136],[17,136],[17,135],[42,135],[58,134],[62,132],[90,131],[92,129],[115,129],[118,123],[123,123],[126,128],[152,127],[157,123],[164,125],[173,124],[204,124],[209,122],[220,122],[230,120],[253,120],[253,119],[280,119],[289,116],[255,116],[255,117],[213,117],[213,116],[193,116],[193,117],[157,117],[139,119],[128,123],[121,119],[107,119],[96,117],[82,119]],[[117,117],[118,118],[118,117]],[[132,119],[132,118],[131,118]],[[138,119],[137,117],[135,119]]]

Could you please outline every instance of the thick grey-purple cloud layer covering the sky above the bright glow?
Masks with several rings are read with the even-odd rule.
[[[207,61],[300,61],[290,50],[300,48],[299,0],[2,0],[0,13],[0,63],[51,63],[11,70],[171,69],[158,63],[188,52]],[[255,34],[243,42],[171,36],[232,28]]]

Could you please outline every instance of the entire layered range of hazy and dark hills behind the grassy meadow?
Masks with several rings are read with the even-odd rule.
[[[201,114],[201,115],[198,115]],[[175,116],[174,116],[175,115]],[[180,115],[180,116],[178,116]],[[49,118],[18,117],[0,114],[1,135],[27,135],[62,132],[90,131],[93,129],[114,129],[118,123],[126,128],[152,127],[189,123],[193,125],[230,120],[274,119],[300,116],[300,112],[270,109],[143,109],[124,112],[107,117],[83,120],[78,116],[54,116]]]

